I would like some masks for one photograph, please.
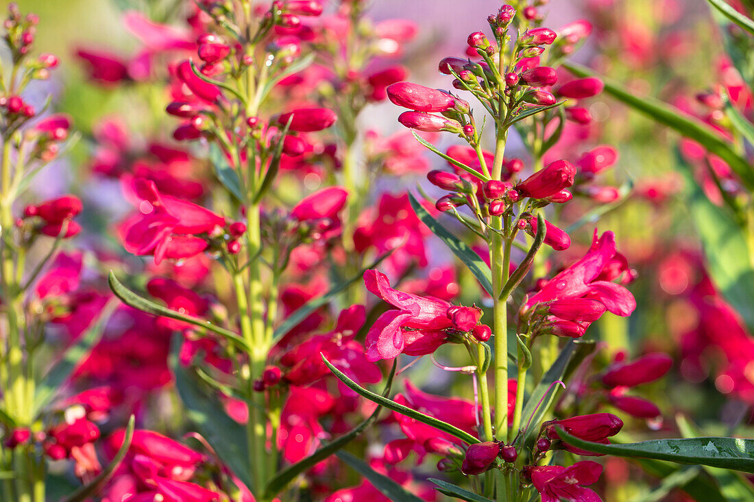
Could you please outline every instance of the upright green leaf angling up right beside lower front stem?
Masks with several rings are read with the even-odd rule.
[[[550,409],[550,405],[555,399],[555,394],[559,388],[556,384],[557,381],[562,381],[573,369],[572,361],[583,359],[586,354],[583,354],[585,347],[589,347],[593,350],[593,344],[581,344],[575,340],[569,340],[566,347],[560,351],[557,359],[550,366],[542,376],[541,381],[532,390],[529,399],[526,401],[526,405],[521,412],[521,430],[514,445],[516,448],[520,448],[535,431],[539,430],[540,421]],[[590,350],[590,351],[591,351]],[[524,423],[526,421],[526,424]]]

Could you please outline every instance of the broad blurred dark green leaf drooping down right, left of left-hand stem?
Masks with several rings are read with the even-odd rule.
[[[225,465],[252,489],[246,430],[230,418],[219,399],[202,389],[198,378],[181,365],[178,357],[181,343],[182,336],[177,333],[173,335],[168,363],[176,378],[176,387],[186,408],[186,416],[196,424],[201,435],[207,439]]]

